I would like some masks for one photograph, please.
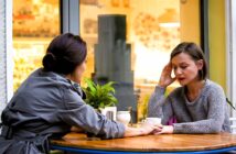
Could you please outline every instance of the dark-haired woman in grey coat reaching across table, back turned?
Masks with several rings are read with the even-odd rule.
[[[150,134],[160,125],[129,128],[106,119],[83,100],[79,82],[86,68],[86,43],[71,33],[56,36],[2,112],[0,154],[49,152],[49,136],[61,138],[72,127],[104,138]]]

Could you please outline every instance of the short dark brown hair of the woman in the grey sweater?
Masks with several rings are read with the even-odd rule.
[[[185,54],[190,55],[193,58],[193,61],[195,61],[195,62],[200,61],[200,59],[203,61],[203,68],[202,68],[202,70],[199,70],[199,77],[200,77],[200,80],[205,79],[207,76],[207,64],[206,64],[205,56],[203,54],[202,48],[193,42],[180,43],[172,51],[171,59],[174,56],[179,55],[180,53],[185,53]]]

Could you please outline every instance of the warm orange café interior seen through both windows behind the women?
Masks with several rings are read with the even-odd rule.
[[[60,0],[13,0],[13,91],[31,72],[42,66],[50,41],[61,33],[61,4]],[[201,43],[199,0],[79,0],[79,14],[75,18],[79,18],[79,34],[87,42],[85,77],[96,74],[97,78],[119,82],[116,89],[118,110],[132,107],[136,121],[147,116],[148,100],[171,50],[184,40]],[[120,21],[122,26],[105,28],[106,21],[100,22],[105,18],[107,22]],[[98,22],[104,25],[98,28]],[[105,35],[106,31],[112,33],[112,26],[119,29],[119,36],[127,46],[120,51],[126,58],[120,55],[119,59],[116,56],[116,61],[108,62],[112,53],[99,57],[96,46],[109,45],[110,40]],[[98,68],[99,59],[107,59],[105,63],[114,68]],[[115,68],[116,65],[119,68]],[[103,73],[103,69],[109,70]],[[174,82],[170,90],[178,86]]]

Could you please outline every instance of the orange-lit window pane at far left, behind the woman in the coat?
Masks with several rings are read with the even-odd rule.
[[[60,34],[60,0],[13,0],[13,88],[42,66],[50,41]]]

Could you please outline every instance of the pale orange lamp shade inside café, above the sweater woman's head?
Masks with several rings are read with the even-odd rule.
[[[160,26],[180,26],[180,16],[175,9],[167,9],[158,20]]]

